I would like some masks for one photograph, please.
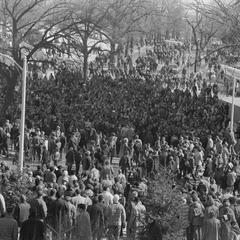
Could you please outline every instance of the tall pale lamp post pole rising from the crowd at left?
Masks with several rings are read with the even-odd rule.
[[[24,130],[25,130],[25,111],[26,111],[26,78],[27,78],[27,57],[23,58],[22,72],[22,109],[21,109],[21,129],[20,129],[20,147],[19,147],[19,163],[20,172],[23,172],[24,161]]]

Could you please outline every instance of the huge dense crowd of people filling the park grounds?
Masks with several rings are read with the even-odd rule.
[[[55,81],[31,83],[29,166],[17,176],[1,164],[0,239],[16,240],[18,229],[20,240],[141,239],[148,181],[159,169],[181,189],[182,237],[238,239],[239,131],[231,134],[218,99],[219,69],[214,78],[187,76],[185,66],[172,71],[169,61],[185,58],[184,51],[164,45],[138,58],[135,69],[92,73],[87,83],[67,69]],[[18,124],[7,120],[0,129],[6,157],[18,150],[18,137]],[[148,231],[149,239],[163,237],[161,227]]]

